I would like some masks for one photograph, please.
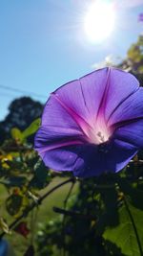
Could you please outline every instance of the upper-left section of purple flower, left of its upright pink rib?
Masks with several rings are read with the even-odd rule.
[[[44,108],[42,126],[56,127],[58,124],[61,128],[79,129],[87,136],[87,141],[90,141],[92,120],[95,122],[95,113],[98,112],[94,108],[94,103],[99,107],[103,98],[103,87],[106,88],[108,70],[98,70],[78,81],[71,81],[53,92]],[[89,79],[90,84],[87,81]],[[88,92],[90,92],[89,96]],[[95,98],[98,101],[95,101]],[[92,111],[90,111],[91,105]]]

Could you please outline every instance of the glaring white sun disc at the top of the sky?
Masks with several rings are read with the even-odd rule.
[[[114,21],[112,4],[101,0],[92,3],[84,19],[84,28],[88,39],[92,42],[102,42],[112,34]]]

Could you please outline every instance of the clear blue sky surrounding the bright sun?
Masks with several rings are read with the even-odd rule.
[[[0,84],[43,95],[27,93],[45,103],[51,91],[90,73],[94,63],[111,55],[124,58],[143,32],[143,22],[138,22],[143,1],[111,0],[116,5],[115,29],[100,44],[92,44],[83,30],[91,2],[1,0]],[[8,113],[10,102],[22,95],[0,87],[0,120]]]

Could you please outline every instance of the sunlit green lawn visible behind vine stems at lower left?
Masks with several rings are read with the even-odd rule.
[[[46,191],[50,190],[52,187],[57,185],[58,183],[64,181],[63,178],[56,177],[52,180],[51,184],[44,190],[41,191],[41,195],[43,195]],[[7,239],[10,242],[10,245],[12,246],[14,253],[16,256],[23,256],[24,252],[27,250],[29,245],[31,244],[31,240],[34,239],[34,235],[39,230],[40,223],[43,224],[46,221],[51,221],[54,218],[56,218],[57,214],[52,211],[52,207],[62,207],[63,201],[66,198],[69,190],[71,187],[71,183],[68,183],[59,189],[57,189],[55,192],[53,192],[48,198],[45,198],[45,200],[40,205],[38,211],[37,211],[37,217],[34,223],[32,224],[32,230],[27,239],[22,237],[21,235],[17,234],[16,232],[12,231],[11,235],[5,235],[5,239]],[[77,190],[77,185],[74,186],[72,190],[72,195],[75,194]],[[0,186],[0,202],[4,202],[5,198],[7,198],[8,194],[6,189],[3,186]],[[3,209],[1,212],[1,216],[6,216],[6,210]],[[8,216],[7,218],[8,222],[10,223],[13,221],[13,219]],[[26,219],[28,223],[31,225],[31,214]],[[33,238],[31,237],[33,236]],[[37,254],[36,254],[37,255]],[[12,256],[12,253],[10,253],[10,256]],[[40,256],[40,255],[37,255]]]

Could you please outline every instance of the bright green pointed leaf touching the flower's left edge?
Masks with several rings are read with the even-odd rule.
[[[36,120],[34,120],[31,123],[31,126],[29,128],[26,128],[23,131],[23,133],[22,133],[23,138],[27,139],[29,136],[31,136],[33,133],[35,133],[37,131],[37,129],[39,128],[40,123],[41,123],[41,119],[40,118],[37,118]]]

